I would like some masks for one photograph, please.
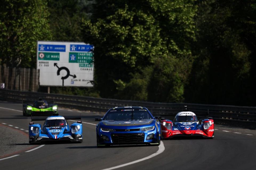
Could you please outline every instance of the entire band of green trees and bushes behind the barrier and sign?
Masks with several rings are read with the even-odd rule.
[[[37,40],[83,41],[94,88],[52,92],[255,105],[255,14],[255,0],[6,0],[0,64],[35,67]]]

